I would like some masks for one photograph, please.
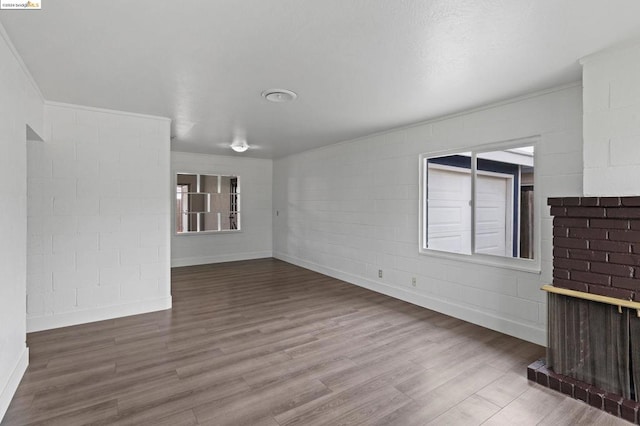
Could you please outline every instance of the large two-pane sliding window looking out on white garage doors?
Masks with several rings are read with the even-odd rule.
[[[421,252],[534,259],[534,147],[422,155]]]

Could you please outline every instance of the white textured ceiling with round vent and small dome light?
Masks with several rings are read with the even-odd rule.
[[[580,79],[638,0],[42,0],[0,22],[47,100],[170,117],[172,149],[278,158]],[[287,104],[265,89],[295,91]],[[244,134],[252,149],[228,145]]]

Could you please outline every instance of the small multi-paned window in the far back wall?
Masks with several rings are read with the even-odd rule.
[[[240,230],[240,178],[178,173],[176,233]]]

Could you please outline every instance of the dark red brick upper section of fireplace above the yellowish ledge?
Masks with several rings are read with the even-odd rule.
[[[640,300],[640,197],[550,198],[553,285]]]

